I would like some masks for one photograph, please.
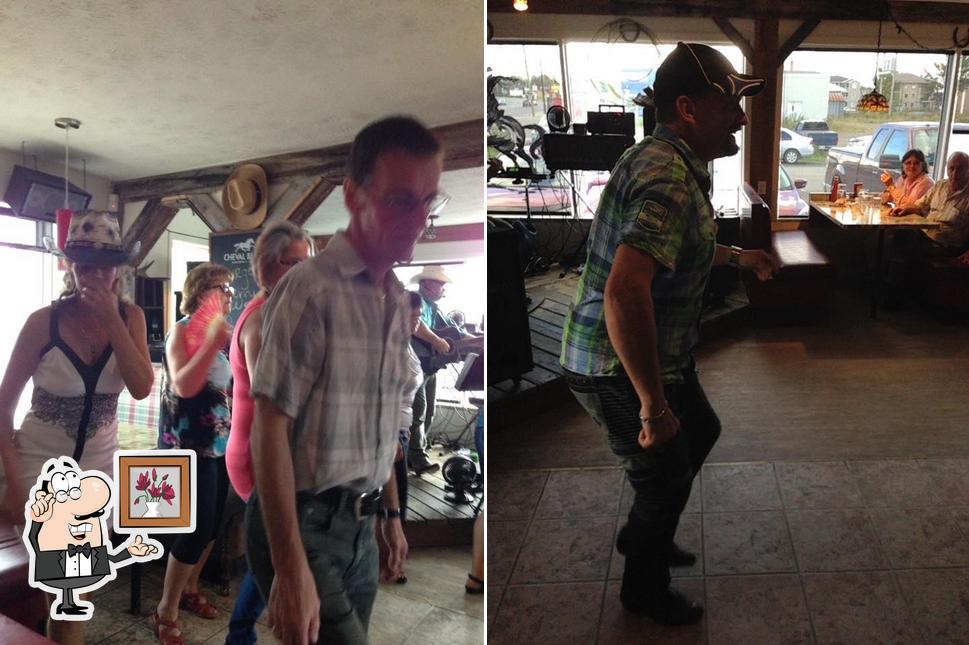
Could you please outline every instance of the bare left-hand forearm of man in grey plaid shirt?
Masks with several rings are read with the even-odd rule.
[[[273,567],[305,560],[296,517],[296,478],[289,447],[292,420],[263,397],[256,398],[250,443],[256,491],[262,507]]]

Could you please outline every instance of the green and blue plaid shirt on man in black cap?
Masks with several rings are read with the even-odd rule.
[[[663,124],[623,154],[589,232],[589,256],[565,320],[563,367],[589,376],[619,373],[603,294],[616,251],[628,244],[660,265],[652,285],[659,363],[664,382],[682,380],[716,251],[709,190],[706,165]]]

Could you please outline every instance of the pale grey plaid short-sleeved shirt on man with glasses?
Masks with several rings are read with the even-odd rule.
[[[293,268],[263,308],[253,396],[293,419],[296,490],[386,483],[411,370],[409,299],[392,272],[374,284],[341,231]]]

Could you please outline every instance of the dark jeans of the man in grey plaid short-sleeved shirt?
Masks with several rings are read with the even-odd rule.
[[[320,598],[318,642],[366,645],[380,571],[374,517],[357,519],[352,505],[305,494],[297,495],[296,513]],[[269,598],[275,572],[256,492],[246,505],[246,529],[249,569]]]

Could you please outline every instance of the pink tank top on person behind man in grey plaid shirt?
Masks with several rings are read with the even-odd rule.
[[[229,363],[232,365],[232,431],[229,432],[229,445],[225,450],[225,466],[229,471],[232,487],[244,500],[248,500],[255,486],[252,470],[252,449],[249,447],[249,431],[252,429],[254,412],[252,394],[249,391],[249,368],[246,354],[239,347],[239,333],[249,315],[266,303],[265,296],[256,296],[249,301],[239,314],[236,328],[232,332],[229,347]]]

